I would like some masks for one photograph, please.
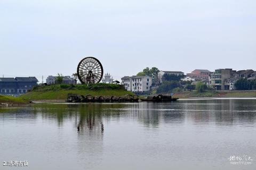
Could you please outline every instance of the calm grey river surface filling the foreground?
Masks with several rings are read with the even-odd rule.
[[[28,167],[3,166],[11,160]],[[256,99],[0,108],[0,161],[0,169],[256,169]]]

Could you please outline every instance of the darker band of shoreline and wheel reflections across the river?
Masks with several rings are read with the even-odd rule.
[[[74,120],[76,131],[104,132],[104,122],[131,119],[157,128],[161,123],[217,125],[254,123],[256,100],[183,100],[176,103],[135,104],[41,104],[32,107],[1,108],[2,118],[54,121],[58,126]]]

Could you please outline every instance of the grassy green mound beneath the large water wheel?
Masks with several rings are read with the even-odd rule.
[[[51,86],[35,87],[31,92],[22,95],[22,99],[27,100],[66,100],[68,94],[92,95],[92,96],[124,96],[132,94],[117,84],[92,84],[87,85],[67,85],[58,84]]]

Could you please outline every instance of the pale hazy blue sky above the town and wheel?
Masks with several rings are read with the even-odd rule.
[[[97,57],[115,79],[143,68],[256,70],[255,0],[0,0],[0,74],[70,75]]]

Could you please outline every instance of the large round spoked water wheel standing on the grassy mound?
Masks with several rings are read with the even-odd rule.
[[[82,84],[99,83],[103,76],[103,67],[94,57],[86,57],[77,66],[77,77]]]

